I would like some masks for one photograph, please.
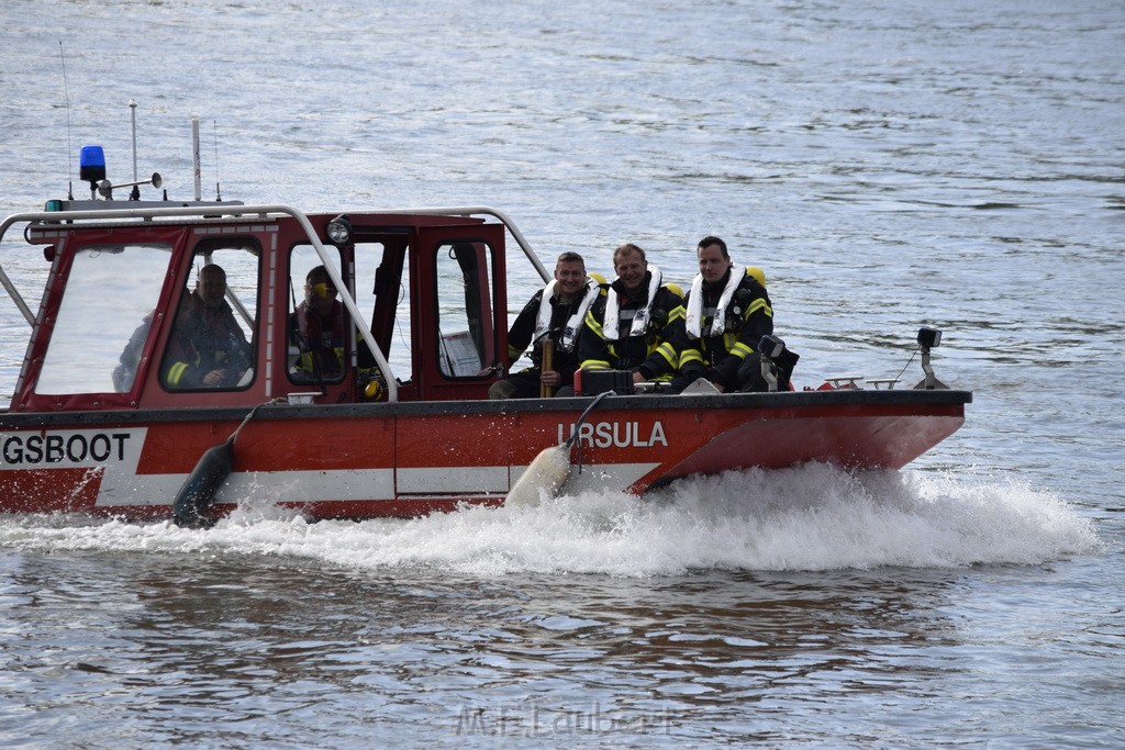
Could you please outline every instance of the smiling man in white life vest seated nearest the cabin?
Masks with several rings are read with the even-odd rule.
[[[532,367],[494,382],[488,398],[536,398],[555,395],[555,389],[569,386],[578,369],[582,322],[600,293],[597,281],[586,275],[582,255],[573,252],[559,255],[555,278],[523,306],[507,334],[508,361],[515,362],[531,345]],[[550,367],[546,368],[544,343],[551,350]]]

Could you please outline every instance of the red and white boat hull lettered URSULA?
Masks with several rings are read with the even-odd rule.
[[[644,494],[692,475],[827,462],[899,469],[964,422],[968,391],[828,390],[605,398],[573,441],[566,491]],[[264,405],[235,442],[214,510],[308,518],[414,516],[500,505],[588,398]],[[0,512],[170,518],[200,457],[246,408],[0,416]]]

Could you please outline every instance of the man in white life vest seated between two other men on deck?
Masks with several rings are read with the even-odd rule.
[[[684,326],[683,298],[663,284],[632,243],[613,251],[618,278],[586,314],[578,338],[583,370],[629,370],[633,382],[672,380],[678,358],[674,341]]]

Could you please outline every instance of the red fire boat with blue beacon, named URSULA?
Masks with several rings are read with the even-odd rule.
[[[488,400],[512,364],[508,261],[550,278],[501,211],[305,214],[201,201],[198,188],[141,200],[159,175],[112,186],[98,156],[83,150],[91,199],[0,225],[6,250],[21,226],[51,269],[33,310],[0,265],[29,329],[0,412],[0,512],[206,523],[258,501],[308,518],[412,516],[503,504],[560,445],[568,493],[810,461],[897,469],[955,432],[972,400],[933,377],[937,332],[919,340],[917,388],[610,395],[588,414],[594,396]],[[114,199],[125,188],[132,199]],[[227,382],[176,382],[173,328],[212,264],[246,361]],[[290,319],[316,265],[354,335],[340,371],[309,377]]]

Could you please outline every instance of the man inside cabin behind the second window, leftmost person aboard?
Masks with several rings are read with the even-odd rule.
[[[164,356],[170,389],[232,388],[250,369],[251,350],[226,301],[226,271],[210,263],[180,301]]]

